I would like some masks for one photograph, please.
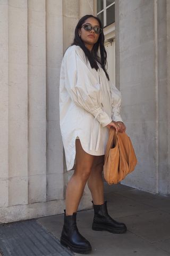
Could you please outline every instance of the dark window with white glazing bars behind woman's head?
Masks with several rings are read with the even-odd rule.
[[[115,22],[115,1],[97,0],[97,17],[104,27]]]

